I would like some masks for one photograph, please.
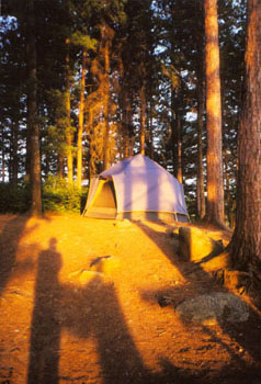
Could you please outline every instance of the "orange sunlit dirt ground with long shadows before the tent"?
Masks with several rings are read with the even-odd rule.
[[[185,273],[174,225],[3,215],[0,228],[0,384],[261,383],[254,306],[243,324],[200,325],[159,305],[224,290]]]

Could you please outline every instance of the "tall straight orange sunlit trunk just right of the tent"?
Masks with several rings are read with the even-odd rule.
[[[205,219],[224,226],[222,103],[216,0],[205,0],[207,204]]]

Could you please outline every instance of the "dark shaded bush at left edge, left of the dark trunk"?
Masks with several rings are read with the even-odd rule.
[[[25,213],[30,210],[30,188],[27,183],[12,185],[0,183],[0,213]]]

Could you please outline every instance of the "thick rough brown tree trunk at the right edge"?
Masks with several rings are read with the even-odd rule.
[[[230,244],[234,264],[261,271],[261,3],[248,1],[246,98],[238,133],[236,228]]]

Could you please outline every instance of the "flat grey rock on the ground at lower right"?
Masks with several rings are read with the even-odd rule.
[[[175,314],[184,323],[243,323],[249,317],[249,307],[232,293],[212,292],[183,301],[177,306]]]

